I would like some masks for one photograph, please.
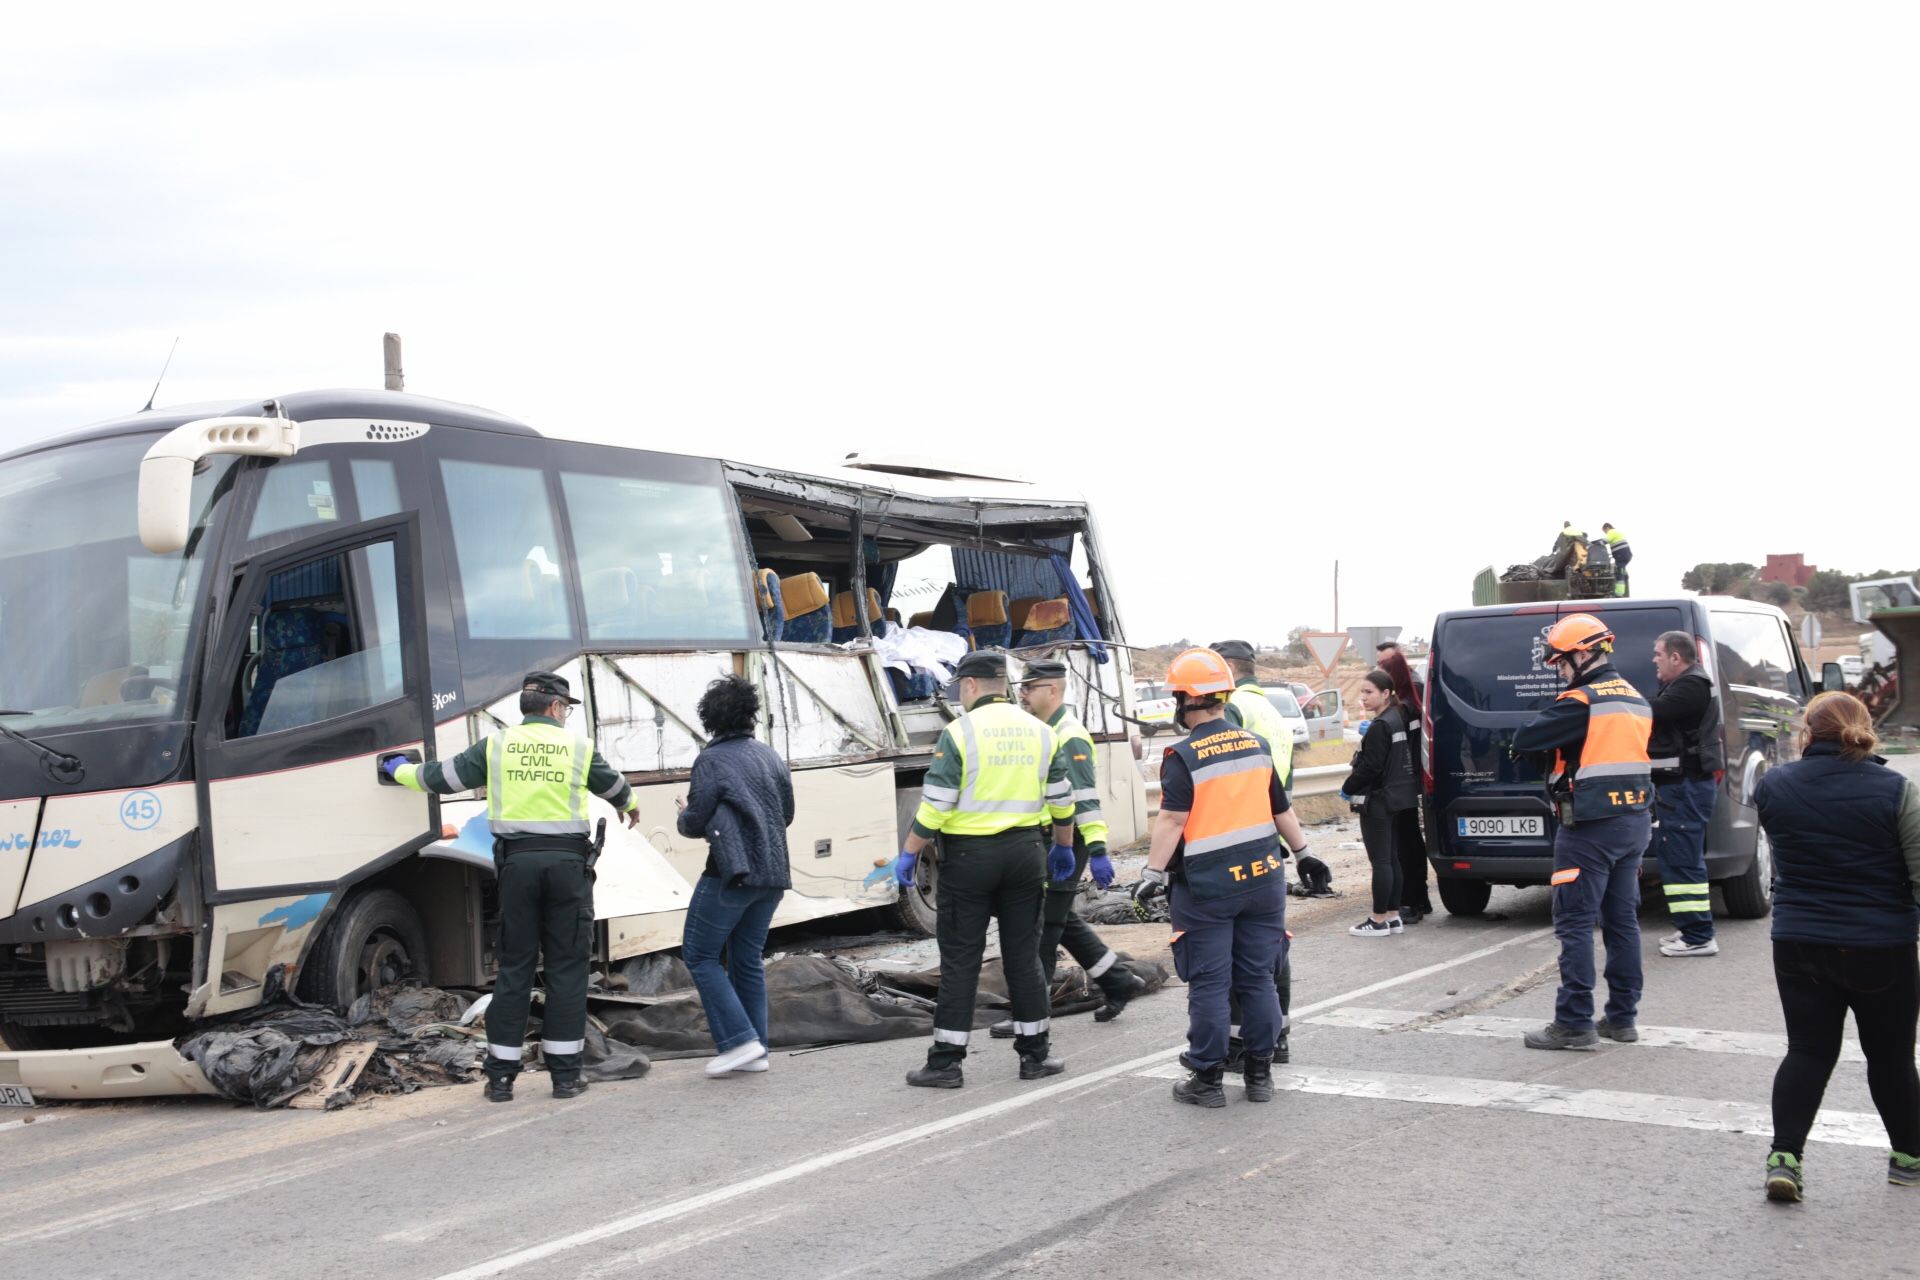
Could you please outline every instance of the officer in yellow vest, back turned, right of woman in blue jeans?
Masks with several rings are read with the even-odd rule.
[[[920,787],[920,812],[893,862],[914,883],[920,854],[939,839],[941,990],[927,1065],[906,1073],[922,1088],[960,1088],[960,1061],[973,1034],[973,996],[987,923],[1000,921],[1000,967],[1014,1004],[1020,1079],[1060,1075],[1048,1057],[1048,990],[1041,967],[1041,894],[1068,879],[1073,856],[1073,787],[1056,735],[1008,697],[1006,654],[970,652],[954,666],[966,714],[941,729]],[[1044,827],[1052,819],[1052,848]]]

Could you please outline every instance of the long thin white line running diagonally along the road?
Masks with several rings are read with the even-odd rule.
[[[1492,946],[1482,946],[1475,952],[1467,952],[1465,956],[1455,956],[1453,960],[1442,960],[1440,963],[1427,965],[1425,969],[1415,969],[1411,973],[1402,973],[1398,977],[1380,979],[1379,983],[1357,986],[1340,996],[1329,996],[1327,1000],[1317,1000],[1309,1006],[1302,1006],[1300,1009],[1296,1009],[1294,1017],[1308,1017],[1311,1013],[1317,1013],[1319,1009],[1331,1009],[1332,1006],[1344,1004],[1348,1000],[1361,1000],[1363,996],[1371,996],[1379,990],[1388,990],[1392,986],[1413,983],[1423,977],[1430,977],[1434,973],[1444,973],[1448,969],[1457,969],[1459,965],[1469,965],[1475,960],[1484,960],[1513,946],[1538,942],[1540,938],[1551,935],[1553,935],[1551,929],[1532,929],[1528,933],[1515,935],[1505,942],[1494,942]],[[553,1240],[545,1240],[541,1244],[528,1245],[524,1249],[515,1249],[513,1253],[501,1253],[499,1257],[492,1257],[484,1263],[474,1263],[472,1267],[465,1267],[461,1270],[449,1270],[444,1276],[438,1276],[438,1280],[482,1280],[482,1276],[497,1276],[501,1272],[513,1270],[515,1267],[526,1267],[528,1263],[549,1259],[555,1253],[566,1253],[568,1249],[578,1249],[582,1245],[597,1244],[612,1236],[624,1236],[643,1226],[653,1226],[655,1222],[666,1222],[672,1219],[685,1217],[689,1213],[712,1209],[714,1205],[724,1205],[730,1199],[737,1199],[741,1196],[753,1196],[755,1192],[762,1192],[770,1186],[780,1186],[781,1182],[804,1178],[806,1174],[820,1173],[824,1169],[833,1169],[835,1165],[845,1165],[849,1161],[856,1161],[866,1155],[879,1155],[881,1151],[891,1151],[895,1148],[908,1146],[910,1142],[920,1142],[922,1138],[935,1138],[954,1128],[964,1128],[966,1125],[989,1121],[996,1115],[1006,1115],[1008,1111],[1018,1111],[1021,1107],[1031,1107],[1039,1102],[1048,1102],[1052,1098],[1060,1098],[1062,1094],[1077,1092],[1081,1088],[1087,1088],[1089,1084],[1098,1084],[1100,1080],[1112,1080],[1114,1077],[1123,1077],[1123,1075],[1139,1075],[1146,1067],[1164,1063],[1169,1057],[1177,1057],[1179,1052],[1181,1052],[1179,1046],[1158,1050],[1154,1054],[1146,1054],[1144,1057],[1135,1057],[1123,1063],[1114,1063],[1112,1067],[1100,1067],[1098,1071],[1089,1071],[1087,1075],[1068,1077],[1058,1084],[1044,1084],[1035,1090],[1020,1092],[1010,1098],[1002,1098],[1000,1102],[991,1102],[983,1107],[973,1107],[972,1111],[960,1111],[958,1115],[948,1115],[939,1121],[929,1121],[925,1125],[902,1128],[891,1134],[883,1134],[879,1138],[872,1138],[868,1142],[856,1142],[852,1146],[845,1146],[833,1151],[822,1151],[820,1155],[814,1155],[810,1159],[803,1159],[799,1163],[785,1165],[781,1169],[772,1169],[768,1173],[745,1178],[741,1182],[716,1186],[710,1192],[701,1192],[699,1196],[687,1196],[685,1199],[672,1199],[664,1205],[655,1205],[653,1209],[641,1209],[637,1213],[628,1213],[618,1219],[609,1219],[599,1226],[588,1226],[586,1230],[578,1230],[568,1236],[555,1236]]]

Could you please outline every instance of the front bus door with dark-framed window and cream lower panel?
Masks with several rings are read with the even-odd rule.
[[[424,975],[419,915],[390,892],[348,910],[344,954],[315,950],[353,883],[440,831],[438,798],[376,764],[432,743],[419,545],[409,514],[234,566],[194,731],[211,927],[190,1015],[257,1004],[301,963],[326,1004]]]

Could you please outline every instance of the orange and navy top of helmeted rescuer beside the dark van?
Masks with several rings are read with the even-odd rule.
[[[1599,664],[1513,735],[1513,750],[1553,752],[1548,787],[1572,794],[1574,821],[1644,814],[1653,804],[1653,708]]]

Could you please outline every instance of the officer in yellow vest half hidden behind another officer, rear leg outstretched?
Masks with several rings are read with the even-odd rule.
[[[1060,946],[1066,944],[1068,954],[1087,971],[1087,979],[1106,996],[1106,1004],[1092,1013],[1094,1021],[1110,1023],[1119,1017],[1129,1000],[1146,990],[1146,983],[1117,967],[1119,956],[1114,948],[1102,942],[1092,925],[1073,910],[1087,869],[1092,869],[1092,883],[1106,889],[1114,883],[1114,860],[1106,856],[1106,814],[1100,812],[1100,777],[1094,770],[1092,735],[1073,716],[1066,695],[1066,662],[1043,658],[1027,664],[1027,677],[1020,683],[1020,702],[1054,731],[1054,752],[1066,756],[1068,785],[1073,789],[1073,871],[1066,879],[1046,881],[1044,906],[1041,908],[1041,969],[1046,971],[1046,988],[1052,990],[1054,969],[1060,967]],[[945,890],[945,881],[941,889]],[[995,1023],[993,1034],[998,1040],[1010,1038],[1014,1019]]]

